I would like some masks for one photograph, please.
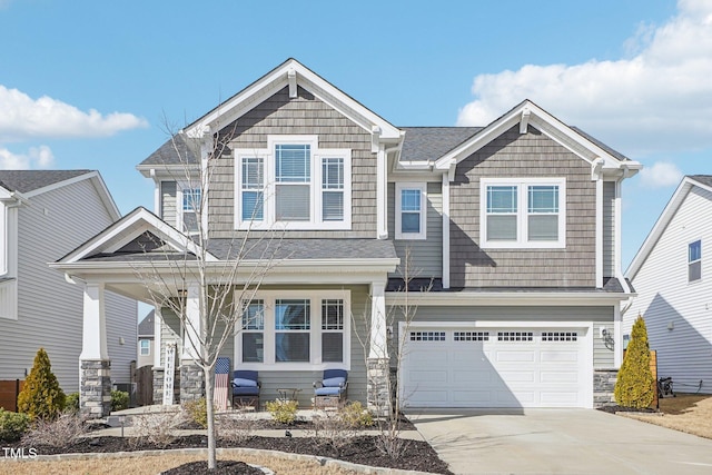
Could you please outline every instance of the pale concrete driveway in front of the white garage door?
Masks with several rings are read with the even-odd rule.
[[[409,409],[456,474],[712,474],[712,441],[594,409]]]

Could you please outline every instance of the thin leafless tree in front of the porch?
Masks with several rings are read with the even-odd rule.
[[[250,321],[247,311],[265,276],[275,266],[281,234],[250,231],[215,239],[208,229],[208,198],[224,155],[229,155],[231,133],[186,137],[170,133],[170,160],[161,167],[180,184],[182,194],[182,249],[147,237],[148,265],[135,270],[157,308],[168,309],[181,323],[184,353],[202,373],[208,417],[208,468],[216,467],[215,367],[229,338]],[[180,202],[178,204],[180,206]],[[257,212],[257,207],[254,210]],[[258,318],[258,317],[257,317]]]

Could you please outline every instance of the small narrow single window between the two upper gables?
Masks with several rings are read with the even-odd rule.
[[[425,239],[426,184],[396,184],[396,239]]]

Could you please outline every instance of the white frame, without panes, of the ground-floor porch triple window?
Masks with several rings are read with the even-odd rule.
[[[264,300],[265,328],[263,330],[263,363],[243,363],[243,330],[241,320],[236,325],[235,331],[235,362],[244,369],[255,370],[323,370],[346,369],[350,370],[350,331],[352,323],[348,317],[350,309],[350,290],[260,290],[251,296],[251,300]],[[236,290],[235,298],[240,299],[240,291]],[[277,362],[276,360],[276,333],[275,329],[275,303],[285,299],[310,300],[309,315],[309,362]],[[344,301],[344,357],[343,362],[322,360],[322,300],[340,299]],[[240,305],[245,305],[241,300]],[[333,330],[324,330],[333,333]]]

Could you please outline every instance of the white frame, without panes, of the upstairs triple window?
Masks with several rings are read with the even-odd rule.
[[[277,145],[308,145],[310,147],[310,219],[308,221],[284,221],[276,217],[276,158]],[[264,219],[243,219],[243,159],[263,158],[265,171]],[[344,160],[344,219],[323,220],[322,216],[322,160],[340,158]],[[238,230],[274,229],[287,230],[350,230],[352,229],[352,149],[319,148],[318,136],[268,136],[266,149],[235,149],[235,227]]]

